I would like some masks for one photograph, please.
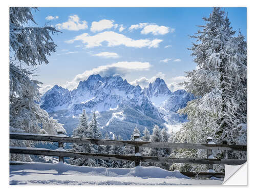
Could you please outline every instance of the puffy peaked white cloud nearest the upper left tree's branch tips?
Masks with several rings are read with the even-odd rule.
[[[81,20],[77,15],[71,15],[69,16],[69,19],[67,22],[62,23],[62,24],[57,24],[55,27],[59,30],[61,29],[67,29],[70,31],[78,31],[81,29],[87,29],[87,22],[86,20]]]

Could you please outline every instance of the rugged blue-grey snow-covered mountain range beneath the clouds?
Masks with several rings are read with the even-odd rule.
[[[176,112],[191,99],[194,96],[184,90],[171,92],[160,78],[142,89],[118,75],[91,75],[72,91],[55,85],[41,97],[40,107],[63,123],[68,135],[85,109],[89,118],[97,113],[103,134],[130,139],[135,126],[142,133],[145,127],[152,131],[155,124],[170,127],[186,121]]]

